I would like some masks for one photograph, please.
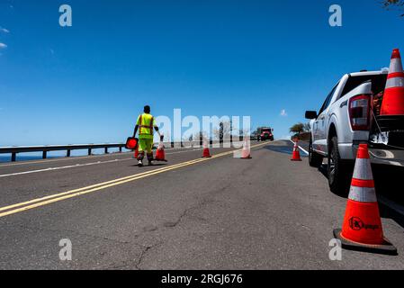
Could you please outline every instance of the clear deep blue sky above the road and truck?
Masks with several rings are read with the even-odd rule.
[[[250,115],[280,138],[343,74],[388,67],[403,24],[378,0],[1,0],[0,146],[121,142],[147,103]]]

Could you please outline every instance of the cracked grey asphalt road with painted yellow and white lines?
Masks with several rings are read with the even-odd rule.
[[[0,268],[404,268],[404,220],[384,204],[399,256],[344,250],[331,261],[346,198],[307,157],[290,161],[291,142],[259,145],[252,159],[166,150],[168,163],[143,168],[129,154],[1,165]],[[59,259],[62,238],[71,261]]]

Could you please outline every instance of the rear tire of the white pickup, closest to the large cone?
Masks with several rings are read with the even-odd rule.
[[[328,151],[328,184],[331,192],[346,196],[349,193],[353,166],[339,156],[338,139],[329,140]]]

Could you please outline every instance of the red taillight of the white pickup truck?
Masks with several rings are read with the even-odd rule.
[[[357,95],[349,101],[352,130],[369,130],[370,102],[371,97],[367,94]]]

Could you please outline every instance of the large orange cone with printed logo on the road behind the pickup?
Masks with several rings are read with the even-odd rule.
[[[344,223],[334,236],[346,249],[397,255],[396,247],[383,237],[367,144],[359,146]]]

